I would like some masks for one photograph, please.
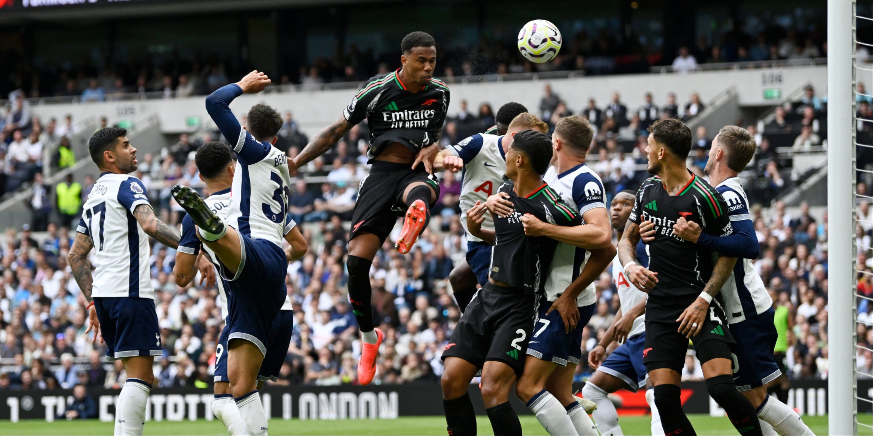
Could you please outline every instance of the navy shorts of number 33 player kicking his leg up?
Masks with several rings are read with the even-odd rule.
[[[235,276],[222,266],[228,288],[228,341],[244,339],[266,356],[270,329],[285,303],[288,260],[276,244],[240,235],[242,260]],[[232,296],[232,297],[231,297]]]

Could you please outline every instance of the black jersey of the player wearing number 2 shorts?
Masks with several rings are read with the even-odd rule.
[[[489,275],[513,288],[541,292],[558,242],[546,236],[526,236],[522,215],[531,214],[559,226],[581,225],[582,217],[546,183],[532,193],[519,195],[512,181],[506,180],[498,191],[509,194],[514,208],[510,215],[494,216]]]

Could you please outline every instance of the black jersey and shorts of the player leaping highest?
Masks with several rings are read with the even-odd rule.
[[[349,239],[358,232],[368,232],[384,241],[397,217],[406,212],[408,205],[403,203],[402,196],[411,183],[423,181],[439,197],[439,181],[424,169],[424,164],[410,169],[409,164],[374,160],[395,143],[418,153],[436,142],[443,129],[450,99],[448,86],[433,78],[430,85],[418,92],[409,92],[399,72],[370,78],[343,111],[350,124],[367,119],[370,131],[367,157],[373,164],[370,174],[358,187]]]

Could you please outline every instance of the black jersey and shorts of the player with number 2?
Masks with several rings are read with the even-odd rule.
[[[545,183],[524,196],[514,192],[512,181],[504,181],[498,191],[509,194],[514,208],[511,215],[494,216],[489,276],[510,286],[485,283],[473,296],[451,334],[443,359],[455,356],[479,368],[488,360],[499,360],[520,374],[537,302],[558,244],[546,236],[526,236],[521,217],[530,214],[559,226],[578,226],[582,219]]]

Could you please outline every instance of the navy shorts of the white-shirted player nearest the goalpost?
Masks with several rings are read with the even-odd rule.
[[[771,307],[757,317],[728,326],[737,341],[733,347],[733,383],[737,391],[766,385],[782,373],[773,358],[778,337],[773,324],[774,313]]]

